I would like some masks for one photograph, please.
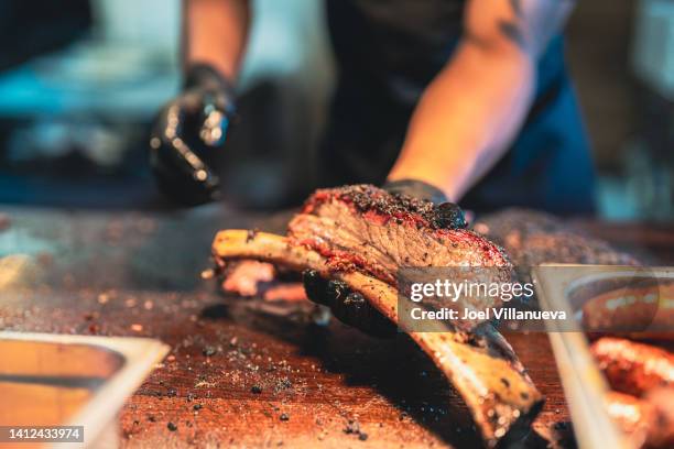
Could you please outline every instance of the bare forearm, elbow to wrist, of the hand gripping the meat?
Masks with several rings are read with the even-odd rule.
[[[523,53],[461,44],[426,88],[389,179],[425,180],[460,199],[508,150],[531,106],[534,77]]]

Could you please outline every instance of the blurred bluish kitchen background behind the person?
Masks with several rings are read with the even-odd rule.
[[[323,2],[254,0],[253,18],[224,184],[278,208],[307,193],[331,55]],[[180,86],[180,0],[0,2],[0,204],[167,207],[148,134]],[[601,217],[674,218],[674,1],[578,2],[567,37]]]

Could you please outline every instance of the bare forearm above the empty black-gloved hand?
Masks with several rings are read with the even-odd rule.
[[[249,0],[184,0],[183,61],[237,78],[248,37]]]

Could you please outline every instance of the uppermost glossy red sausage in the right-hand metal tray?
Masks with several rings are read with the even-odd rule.
[[[664,349],[605,337],[590,350],[613,390],[641,396],[659,386],[674,386],[674,354]]]

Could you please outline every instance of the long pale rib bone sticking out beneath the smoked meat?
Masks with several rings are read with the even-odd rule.
[[[393,322],[398,322],[398,291],[371,273],[335,270],[319,252],[296,239],[246,230],[220,231],[213,247],[220,262],[256,259],[296,271],[316,270],[345,282]],[[442,326],[438,324],[438,326]],[[533,419],[542,395],[506,340],[485,324],[476,333],[450,328],[410,332],[414,341],[448,377],[472,413],[488,446],[494,446],[517,424]]]

